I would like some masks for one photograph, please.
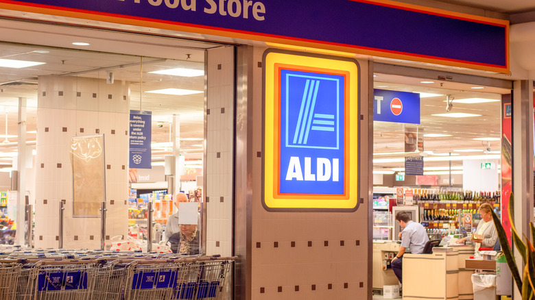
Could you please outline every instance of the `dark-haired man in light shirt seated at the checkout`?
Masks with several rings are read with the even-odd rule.
[[[414,254],[423,253],[425,243],[429,240],[429,236],[427,236],[425,228],[420,223],[411,221],[407,212],[398,212],[396,214],[396,221],[398,221],[401,228],[403,228],[403,231],[399,234],[399,237],[401,238],[401,246],[399,247],[396,257],[390,262],[390,265],[401,284],[403,283],[401,281],[401,276],[403,275],[403,254],[405,254],[407,249]]]

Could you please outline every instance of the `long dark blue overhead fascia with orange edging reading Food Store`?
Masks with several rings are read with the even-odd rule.
[[[508,21],[394,1],[0,0],[0,8],[509,70]]]

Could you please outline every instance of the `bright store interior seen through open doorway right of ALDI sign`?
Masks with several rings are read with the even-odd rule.
[[[385,73],[374,80],[373,288],[383,292],[399,284],[390,266],[402,240],[398,212],[440,245],[475,232],[482,203],[500,213],[510,88]]]

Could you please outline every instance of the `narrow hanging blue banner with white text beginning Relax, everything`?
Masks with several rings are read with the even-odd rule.
[[[152,168],[152,113],[130,110],[130,168]]]

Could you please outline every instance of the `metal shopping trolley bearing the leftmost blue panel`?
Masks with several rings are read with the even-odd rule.
[[[89,299],[102,260],[27,260],[16,299]]]

